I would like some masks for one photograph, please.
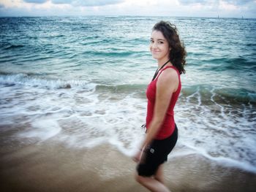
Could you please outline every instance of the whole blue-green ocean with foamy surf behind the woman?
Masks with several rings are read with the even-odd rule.
[[[108,143],[132,155],[143,138],[157,61],[151,28],[176,24],[187,49],[169,158],[198,153],[256,173],[256,20],[172,17],[0,18],[1,147]]]

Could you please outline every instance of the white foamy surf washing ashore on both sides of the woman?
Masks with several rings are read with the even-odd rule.
[[[146,99],[116,94],[113,88],[83,89],[1,88],[1,125],[30,124],[16,134],[20,138],[48,139],[69,147],[94,147],[104,143],[132,155],[143,139]],[[182,96],[176,106],[179,139],[170,157],[199,153],[212,161],[255,172],[255,121],[252,106],[233,108],[219,104],[212,93],[206,105],[200,89]],[[20,118],[18,118],[20,116]],[[2,129],[1,131],[4,131]],[[6,131],[6,130],[5,130]]]

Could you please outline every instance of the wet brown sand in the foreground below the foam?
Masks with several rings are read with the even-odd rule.
[[[133,178],[131,158],[110,145],[74,149],[53,140],[31,145],[2,141],[0,191],[147,191]],[[173,192],[256,188],[256,174],[220,166],[195,154],[170,158],[165,178]]]

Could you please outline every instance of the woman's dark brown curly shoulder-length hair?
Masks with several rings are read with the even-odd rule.
[[[154,25],[152,31],[162,32],[171,48],[169,53],[170,62],[178,69],[180,74],[185,74],[184,66],[186,65],[187,51],[185,50],[184,43],[178,37],[176,26],[168,21],[161,20]]]

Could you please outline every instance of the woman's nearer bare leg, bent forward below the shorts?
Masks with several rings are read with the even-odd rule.
[[[148,188],[148,190],[152,192],[170,192],[170,190],[164,184],[160,183],[153,177],[143,177],[137,174],[136,180],[138,183]]]

